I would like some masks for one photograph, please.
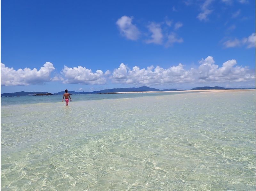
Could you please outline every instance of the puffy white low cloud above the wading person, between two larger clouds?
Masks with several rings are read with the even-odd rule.
[[[97,70],[96,73],[93,73],[92,70],[89,70],[85,67],[78,66],[74,68],[69,68],[64,66],[61,70],[63,75],[64,84],[105,84],[106,78],[104,73],[101,70]]]

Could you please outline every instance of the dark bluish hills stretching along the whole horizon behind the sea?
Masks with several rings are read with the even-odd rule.
[[[219,86],[215,87],[196,87],[192,88],[191,90],[204,90],[204,89],[255,89],[255,88],[223,88]],[[147,86],[142,86],[140,88],[113,88],[113,89],[104,89],[100,91],[93,91],[93,92],[75,92],[75,91],[68,91],[70,94],[100,94],[100,93],[116,93],[116,92],[146,92],[146,91],[154,91],[154,92],[163,92],[163,91],[178,91],[177,89],[156,89],[156,88],[149,88]],[[14,92],[14,93],[3,93],[1,96],[31,96],[36,94],[47,94],[48,92]],[[53,95],[63,95],[65,91],[61,91],[58,93],[54,93]]]

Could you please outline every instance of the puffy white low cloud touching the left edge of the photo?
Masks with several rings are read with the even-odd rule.
[[[40,70],[30,68],[14,70],[1,63],[1,86],[27,86],[51,81],[50,74],[55,68],[46,62]]]

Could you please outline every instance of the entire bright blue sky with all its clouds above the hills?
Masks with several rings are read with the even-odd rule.
[[[254,0],[1,0],[1,93],[255,88]]]

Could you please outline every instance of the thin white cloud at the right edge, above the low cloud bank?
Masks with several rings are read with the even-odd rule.
[[[237,46],[245,45],[247,48],[255,47],[255,33],[252,33],[248,38],[243,38],[241,40],[234,39],[223,42],[225,48],[232,48]]]

